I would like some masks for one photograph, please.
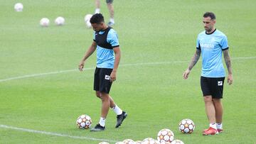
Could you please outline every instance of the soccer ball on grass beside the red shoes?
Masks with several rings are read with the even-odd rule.
[[[195,129],[195,124],[191,119],[186,118],[181,120],[178,125],[178,129],[181,131],[181,133],[192,133]]]

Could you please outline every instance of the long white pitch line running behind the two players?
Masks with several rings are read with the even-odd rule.
[[[250,60],[255,59],[256,57],[233,57],[231,60]],[[200,60],[199,60],[200,61]],[[163,64],[175,64],[175,63],[185,63],[190,62],[190,60],[183,60],[183,61],[171,61],[171,62],[144,62],[144,63],[134,63],[134,64],[124,64],[120,65],[120,67],[129,67],[129,66],[137,66],[137,65],[163,65]],[[94,70],[95,67],[85,68],[84,70]],[[6,82],[14,79],[25,79],[29,77],[39,77],[43,75],[50,75],[50,74],[60,74],[60,73],[67,73],[67,72],[76,72],[78,69],[73,70],[60,70],[56,72],[46,72],[46,73],[40,73],[40,74],[28,74],[18,77],[9,77],[6,79],[0,79],[0,82]]]

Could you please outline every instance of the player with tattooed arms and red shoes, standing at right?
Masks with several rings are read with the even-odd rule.
[[[206,115],[210,127],[203,131],[203,135],[215,135],[223,131],[222,117],[223,84],[225,70],[222,62],[222,53],[228,68],[228,84],[233,83],[230,55],[228,53],[228,40],[226,35],[215,28],[215,14],[206,12],[203,14],[203,25],[206,31],[198,34],[196,41],[196,53],[183,73],[187,79],[202,53],[201,89],[205,102]]]

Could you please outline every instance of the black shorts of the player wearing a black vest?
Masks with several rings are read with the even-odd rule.
[[[110,88],[112,82],[110,82],[110,74],[112,69],[98,68],[95,69],[95,79],[94,79],[94,90],[110,93]]]

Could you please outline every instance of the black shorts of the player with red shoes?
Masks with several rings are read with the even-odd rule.
[[[201,77],[203,96],[213,96],[213,99],[223,98],[223,85],[225,77]]]

